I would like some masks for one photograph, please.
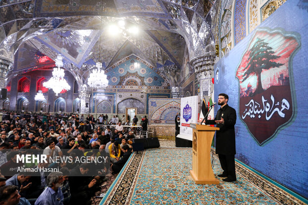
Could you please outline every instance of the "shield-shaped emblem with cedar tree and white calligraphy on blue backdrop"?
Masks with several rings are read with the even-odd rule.
[[[236,70],[239,117],[261,146],[294,117],[295,90],[290,62],[299,46],[294,32],[260,27]]]

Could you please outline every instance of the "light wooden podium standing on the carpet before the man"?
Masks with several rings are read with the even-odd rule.
[[[193,169],[190,175],[196,184],[219,184],[211,164],[211,144],[219,128],[190,124],[193,129]]]

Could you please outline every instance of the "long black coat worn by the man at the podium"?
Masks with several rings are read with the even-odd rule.
[[[215,120],[224,118],[224,124],[216,124]],[[216,131],[216,153],[232,155],[235,151],[235,131],[234,125],[236,123],[236,112],[228,104],[217,111],[214,120],[207,120],[207,125],[217,125],[220,128]]]

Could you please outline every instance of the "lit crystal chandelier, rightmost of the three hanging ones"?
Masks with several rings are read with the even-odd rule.
[[[101,69],[102,64],[100,62],[96,63],[96,68],[90,73],[87,83],[93,89],[105,89],[108,86],[107,75]]]

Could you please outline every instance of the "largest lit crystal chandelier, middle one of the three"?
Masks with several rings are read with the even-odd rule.
[[[60,68],[63,67],[61,55],[57,56],[56,66],[57,68],[54,68],[54,71],[52,72],[53,76],[47,82],[44,82],[43,86],[53,89],[53,91],[56,93],[56,96],[58,96],[62,90],[70,90],[71,86],[64,79],[64,69]]]

